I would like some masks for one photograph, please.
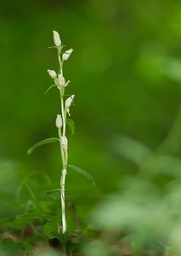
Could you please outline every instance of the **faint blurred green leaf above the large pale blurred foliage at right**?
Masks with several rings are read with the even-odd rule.
[[[124,136],[116,137],[112,141],[112,148],[116,154],[133,161],[137,166],[140,166],[151,153],[150,148],[144,144]]]

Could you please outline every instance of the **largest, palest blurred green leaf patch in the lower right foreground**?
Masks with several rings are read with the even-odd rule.
[[[93,223],[107,230],[137,230],[152,222],[156,207],[160,207],[157,190],[150,182],[138,178],[122,179],[120,192],[101,201],[92,214]],[[155,220],[154,220],[155,221]],[[147,223],[148,222],[148,223]]]

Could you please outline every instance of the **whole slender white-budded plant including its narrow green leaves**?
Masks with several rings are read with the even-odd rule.
[[[54,46],[51,48],[57,49],[57,56],[59,61],[59,70],[56,73],[54,70],[48,69],[48,74],[51,79],[54,79],[54,84],[49,86],[48,90],[45,94],[51,90],[52,88],[57,88],[59,90],[59,99],[60,99],[60,111],[57,114],[55,125],[58,129],[58,137],[51,137],[44,139],[36,144],[34,144],[31,148],[28,149],[28,155],[32,153],[32,151],[44,144],[47,143],[59,143],[60,153],[61,153],[61,161],[62,161],[62,168],[61,168],[61,177],[59,182],[59,189],[52,189],[48,191],[48,194],[59,192],[60,195],[60,202],[61,202],[61,230],[64,234],[67,230],[66,228],[66,214],[65,214],[65,177],[67,174],[67,168],[71,168],[76,172],[82,173],[85,177],[88,177],[89,180],[94,184],[93,177],[82,170],[77,166],[68,165],[68,138],[66,137],[66,127],[68,126],[71,129],[71,134],[74,133],[75,125],[74,121],[70,118],[70,108],[73,104],[75,95],[67,96],[65,95],[65,88],[70,83],[69,80],[65,81],[64,73],[63,73],[63,66],[65,61],[69,59],[73,49],[68,49],[65,52],[63,49],[65,46],[61,43],[61,39],[59,37],[59,33],[54,31]],[[58,233],[60,231],[59,224],[57,225]]]

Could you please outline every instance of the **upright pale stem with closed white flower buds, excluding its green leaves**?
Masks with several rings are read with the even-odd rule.
[[[62,233],[66,232],[66,218],[65,218],[65,177],[67,174],[66,168],[68,164],[68,140],[66,138],[66,114],[70,114],[70,106],[74,96],[69,97],[64,102],[65,86],[69,84],[69,80],[65,83],[65,78],[63,76],[63,63],[67,61],[71,55],[73,49],[65,51],[62,55],[61,50],[63,49],[63,44],[61,44],[61,39],[59,38],[59,33],[54,31],[54,44],[57,48],[57,55],[59,60],[59,73],[57,74],[54,70],[48,69],[49,76],[54,79],[54,83],[59,89],[59,99],[60,99],[60,113],[57,115],[56,126],[58,128],[59,134],[59,145],[60,153],[62,159],[62,172],[60,178],[60,201],[61,201],[61,218],[62,218]],[[59,230],[59,229],[58,229]]]

